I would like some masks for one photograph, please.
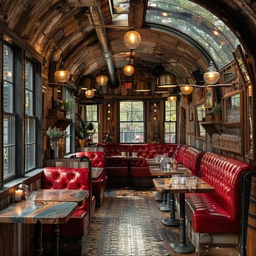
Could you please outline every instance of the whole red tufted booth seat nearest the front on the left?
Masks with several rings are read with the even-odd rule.
[[[69,221],[59,226],[60,236],[84,236],[89,226],[91,203],[91,173],[89,168],[45,167],[42,173],[42,189],[84,189],[89,198],[72,214]],[[46,226],[46,225],[45,225]],[[44,233],[51,231],[46,226]]]

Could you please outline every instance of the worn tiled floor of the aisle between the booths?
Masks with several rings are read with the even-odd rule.
[[[94,214],[83,256],[180,255],[170,247],[170,242],[178,241],[178,228],[162,225],[165,217],[169,212],[159,211],[150,189],[108,190],[104,204]],[[238,252],[215,247],[205,255],[235,256]]]

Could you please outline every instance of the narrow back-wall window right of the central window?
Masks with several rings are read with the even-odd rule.
[[[176,100],[165,101],[165,143],[176,143]]]

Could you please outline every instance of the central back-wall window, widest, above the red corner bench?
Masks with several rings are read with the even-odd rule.
[[[144,102],[119,102],[119,140],[120,143],[144,143],[145,116]]]

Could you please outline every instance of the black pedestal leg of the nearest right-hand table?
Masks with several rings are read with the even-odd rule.
[[[180,193],[180,226],[179,235],[180,241],[178,243],[170,244],[173,247],[174,252],[178,253],[190,253],[195,252],[195,246],[192,243],[186,241],[186,220],[185,220],[185,194]]]

